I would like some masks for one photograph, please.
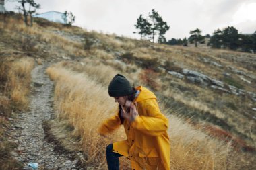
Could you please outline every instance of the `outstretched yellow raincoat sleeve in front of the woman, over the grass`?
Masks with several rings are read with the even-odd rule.
[[[106,135],[110,132],[113,132],[113,130],[119,128],[120,124],[121,124],[121,121],[117,113],[111,118],[108,118],[107,120],[102,122],[102,124],[100,125],[100,128],[98,128],[98,133],[100,135]]]

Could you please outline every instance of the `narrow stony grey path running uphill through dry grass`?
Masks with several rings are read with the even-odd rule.
[[[83,169],[72,153],[56,151],[55,142],[48,142],[43,123],[53,118],[53,82],[45,74],[47,65],[36,65],[32,71],[30,110],[12,120],[9,140],[18,147],[11,154],[24,163],[38,163],[38,169]]]

